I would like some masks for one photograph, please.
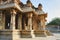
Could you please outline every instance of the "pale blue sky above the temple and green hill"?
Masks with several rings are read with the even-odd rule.
[[[26,4],[27,0],[21,0]],[[47,22],[50,22],[55,17],[60,17],[60,0],[31,0],[32,4],[35,7],[38,7],[38,4],[43,5],[43,11],[48,13]]]

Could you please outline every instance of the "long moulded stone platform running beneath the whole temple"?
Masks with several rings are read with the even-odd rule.
[[[47,32],[47,31],[45,31]],[[49,34],[49,32],[47,32]],[[49,34],[50,35],[50,34]],[[44,31],[27,31],[27,30],[0,30],[0,40],[39,40],[47,38]],[[39,39],[38,39],[39,38]]]

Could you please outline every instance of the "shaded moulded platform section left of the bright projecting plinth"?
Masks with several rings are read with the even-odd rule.
[[[0,30],[0,40],[12,40],[12,31]]]

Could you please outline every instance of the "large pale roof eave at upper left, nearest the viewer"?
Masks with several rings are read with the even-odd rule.
[[[5,10],[5,9],[10,9],[10,8],[14,8],[17,9],[19,11],[22,11],[20,6],[17,5],[16,3],[10,3],[10,4],[6,4],[6,5],[0,5],[0,10]]]

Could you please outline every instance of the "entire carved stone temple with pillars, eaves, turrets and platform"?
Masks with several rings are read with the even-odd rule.
[[[50,36],[46,30],[47,13],[42,4],[34,7],[30,0],[0,0],[0,40],[21,40]]]

